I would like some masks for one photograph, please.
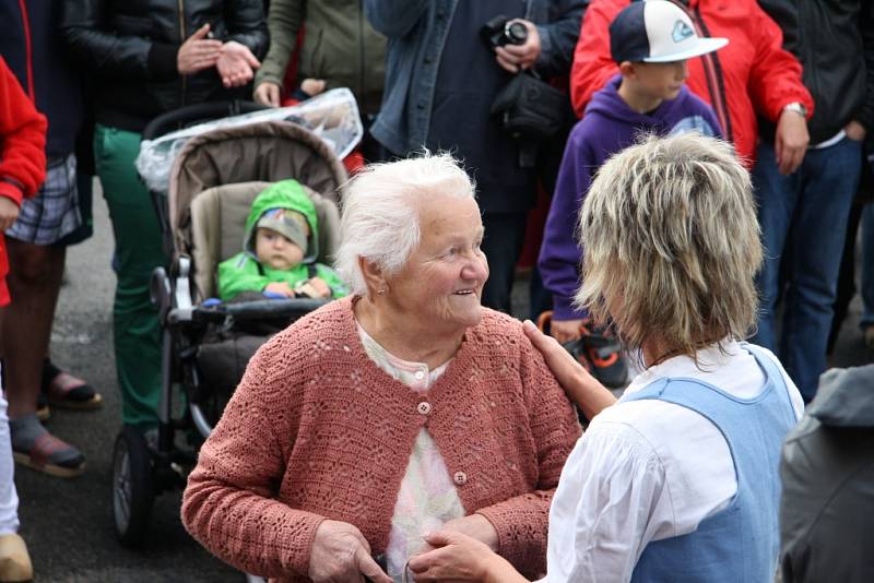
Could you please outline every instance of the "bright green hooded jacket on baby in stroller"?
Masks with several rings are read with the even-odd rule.
[[[304,215],[309,223],[309,241],[304,260],[291,270],[274,270],[258,261],[255,252],[255,226],[267,211],[287,209]],[[287,283],[292,288],[310,278],[310,270],[331,288],[334,298],[349,294],[349,287],[338,273],[322,263],[319,257],[319,222],[316,207],[297,180],[282,180],[265,188],[252,202],[246,219],[243,252],[218,264],[218,297],[227,301],[243,291],[262,291],[268,284]]]

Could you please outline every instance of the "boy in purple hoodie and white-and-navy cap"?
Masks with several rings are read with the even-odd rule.
[[[722,138],[713,110],[684,81],[687,59],[727,44],[725,38],[698,36],[683,9],[666,0],[633,2],[610,25],[619,74],[594,94],[570,132],[539,258],[543,284],[553,294],[552,335],[559,342],[579,337],[588,319],[574,306],[582,257],[574,234],[592,178],[609,157],[643,133],[697,131]],[[599,377],[598,359],[591,360]]]

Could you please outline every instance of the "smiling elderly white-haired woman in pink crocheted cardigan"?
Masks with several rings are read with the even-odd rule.
[[[351,297],[249,362],[189,477],[196,538],[275,581],[398,582],[440,528],[543,572],[580,429],[522,324],[481,307],[482,238],[448,155],[353,179],[336,258]]]

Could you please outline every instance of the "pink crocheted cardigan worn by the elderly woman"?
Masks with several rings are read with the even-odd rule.
[[[425,393],[367,357],[351,298],[274,336],[200,450],[182,522],[223,560],[276,581],[309,581],[324,519],[354,524],[382,552],[423,427],[499,552],[525,574],[545,571],[550,502],[580,428],[521,324],[487,309]]]

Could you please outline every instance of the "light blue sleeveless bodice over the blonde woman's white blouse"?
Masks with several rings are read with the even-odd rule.
[[[753,400],[734,397],[693,379],[660,379],[623,402],[658,398],[689,408],[716,425],[729,443],[737,492],[694,533],[650,543],[633,583],[764,583],[773,580],[780,546],[780,448],[795,425],[780,370],[758,347],[742,344],[765,372]]]

